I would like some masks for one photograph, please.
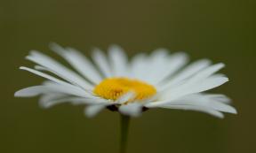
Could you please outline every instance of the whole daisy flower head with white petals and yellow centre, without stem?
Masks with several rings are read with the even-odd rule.
[[[26,58],[36,63],[35,68],[20,69],[46,81],[23,88],[15,96],[40,96],[44,108],[65,102],[86,104],[88,117],[104,108],[127,116],[139,116],[152,108],[202,111],[219,118],[224,117],[222,112],[236,113],[227,96],[204,93],[228,81],[224,74],[217,73],[224,67],[222,63],[211,65],[208,59],[202,59],[187,65],[187,54],[169,55],[164,49],[151,55],[140,53],[129,61],[116,45],[109,47],[108,56],[93,50],[91,61],[72,48],[55,43],[50,46],[74,70],[32,50]]]

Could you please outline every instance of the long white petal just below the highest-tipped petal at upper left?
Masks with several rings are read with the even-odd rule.
[[[92,90],[92,84],[84,80],[82,77],[69,70],[67,67],[60,65],[57,61],[51,57],[47,57],[38,51],[31,51],[31,54],[27,57],[28,60],[35,62],[38,65],[43,65],[45,68],[52,70],[55,74],[61,78],[68,80],[71,83],[76,84],[87,90]]]

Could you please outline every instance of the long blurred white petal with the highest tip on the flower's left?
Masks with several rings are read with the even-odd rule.
[[[100,73],[96,71],[96,68],[92,65],[91,61],[87,57],[84,57],[82,53],[72,48],[64,49],[56,43],[52,43],[50,47],[60,54],[61,57],[64,57],[68,63],[73,65],[73,67],[79,73],[83,74],[85,78],[91,80],[95,84],[100,83],[102,80]]]

